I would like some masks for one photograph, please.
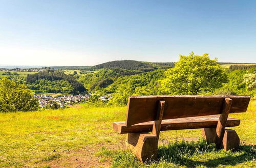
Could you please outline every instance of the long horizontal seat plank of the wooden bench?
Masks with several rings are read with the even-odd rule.
[[[172,120],[162,120],[161,131],[181,130],[181,129],[198,129],[198,128],[216,128],[219,116],[207,117],[189,117]],[[113,128],[118,133],[139,133],[152,131],[153,121],[139,123],[132,126],[126,126],[125,121],[114,122]],[[240,120],[229,117],[226,127],[235,127],[240,125]]]

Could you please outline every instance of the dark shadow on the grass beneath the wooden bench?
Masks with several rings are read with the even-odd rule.
[[[212,155],[212,156],[211,156]],[[224,156],[223,156],[224,155]],[[219,157],[218,157],[219,156]],[[173,162],[175,164],[196,167],[199,165],[207,167],[217,167],[219,165],[236,165],[253,160],[256,150],[252,146],[242,145],[237,152],[217,150],[214,144],[207,144],[205,141],[199,142],[175,142],[163,145],[158,148],[159,160]],[[191,159],[198,158],[199,159]],[[207,159],[218,157],[216,159]],[[206,161],[197,161],[206,160]]]

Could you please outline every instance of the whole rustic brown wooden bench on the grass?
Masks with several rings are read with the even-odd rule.
[[[229,113],[247,110],[247,95],[130,96],[126,121],[114,130],[127,133],[126,146],[142,161],[156,160],[160,131],[203,128],[203,137],[217,148],[238,149],[240,120]],[[211,116],[219,115],[219,116]],[[151,133],[150,133],[151,132]]]

